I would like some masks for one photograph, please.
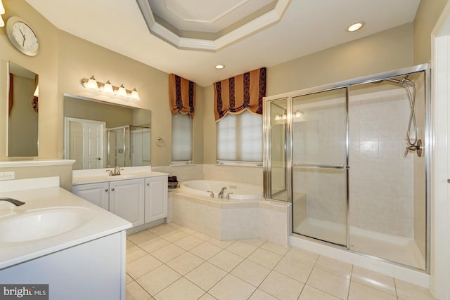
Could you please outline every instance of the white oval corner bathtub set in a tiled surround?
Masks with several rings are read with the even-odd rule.
[[[234,181],[214,181],[214,180],[193,180],[180,183],[181,190],[195,195],[210,197],[212,191],[217,198],[221,188],[226,187],[224,195],[229,195],[230,199],[257,199],[262,198],[262,186]]]

